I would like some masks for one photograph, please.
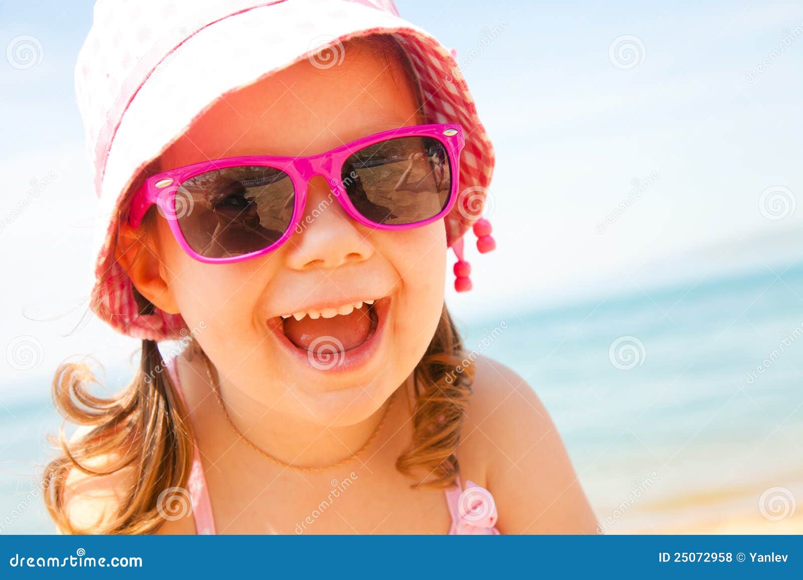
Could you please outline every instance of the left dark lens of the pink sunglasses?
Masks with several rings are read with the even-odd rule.
[[[256,252],[287,231],[296,196],[287,173],[238,166],[190,177],[173,197],[190,248],[206,258]]]

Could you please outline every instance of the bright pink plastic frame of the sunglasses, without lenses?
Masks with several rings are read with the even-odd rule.
[[[345,160],[358,149],[392,138],[411,136],[433,137],[439,140],[446,148],[446,153],[449,157],[450,175],[452,176],[449,200],[440,213],[423,221],[416,221],[410,224],[379,224],[370,221],[361,213],[357,212],[357,209],[354,208],[351,200],[349,200],[348,193],[346,193],[340,182],[343,164]],[[148,211],[151,205],[156,204],[161,209],[161,214],[168,220],[170,230],[173,232],[173,236],[176,238],[178,244],[181,245],[181,249],[189,254],[191,258],[199,262],[210,264],[231,264],[259,258],[259,256],[271,253],[279,248],[279,246],[290,239],[292,234],[296,231],[296,228],[300,225],[304,217],[309,180],[312,179],[313,176],[320,175],[324,176],[327,180],[337,201],[340,202],[345,212],[354,221],[372,229],[389,231],[418,228],[422,225],[427,225],[433,221],[442,219],[442,217],[445,217],[454,207],[454,203],[457,201],[458,197],[457,190],[460,182],[460,152],[462,152],[464,144],[463,127],[459,124],[413,125],[361,137],[361,139],[340,145],[340,147],[319,153],[318,155],[304,157],[238,156],[185,165],[158,173],[145,180],[145,183],[132,199],[128,212],[128,224],[131,225],[132,228],[137,229],[142,221],[142,217],[145,216],[145,212]],[[282,234],[282,237],[279,237],[277,241],[268,245],[266,248],[226,258],[208,258],[202,256],[190,247],[190,244],[187,243],[184,234],[181,232],[181,227],[178,224],[181,216],[177,215],[175,209],[175,193],[177,189],[180,188],[181,184],[191,177],[198,176],[208,171],[214,171],[214,169],[236,167],[238,165],[276,168],[290,176],[295,197],[290,223],[287,225],[287,230]]]

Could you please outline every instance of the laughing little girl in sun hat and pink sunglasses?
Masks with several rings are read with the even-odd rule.
[[[77,94],[92,310],[142,339],[45,473],[64,533],[595,533],[544,407],[471,353],[491,143],[454,55],[391,0],[102,0]],[[161,350],[157,343],[165,342]]]

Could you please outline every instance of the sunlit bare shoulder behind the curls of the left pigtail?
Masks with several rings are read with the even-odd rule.
[[[79,428],[71,440],[87,431]],[[122,454],[107,453],[84,462],[87,473],[73,466],[64,483],[63,509],[70,525],[79,533],[100,533],[113,525],[137,486],[137,468],[122,464]],[[97,473],[100,473],[97,474]],[[61,530],[65,531],[65,530]],[[156,533],[195,533],[191,519],[165,521]]]

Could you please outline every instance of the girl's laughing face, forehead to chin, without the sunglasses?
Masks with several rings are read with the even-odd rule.
[[[165,152],[161,168],[229,156],[312,155],[422,124],[408,85],[397,63],[347,43],[339,65],[322,69],[304,60],[226,95]],[[344,213],[324,177],[308,187],[303,229],[247,262],[195,261],[160,216],[161,275],[187,325],[202,328],[198,343],[222,383],[271,412],[354,424],[410,375],[434,335],[446,233],[442,221],[372,230]],[[351,314],[324,318],[333,313],[328,309]],[[312,319],[311,312],[321,315]],[[282,318],[296,313],[307,315]]]

